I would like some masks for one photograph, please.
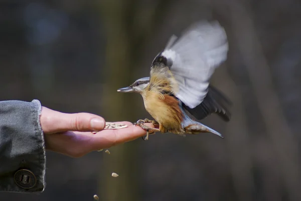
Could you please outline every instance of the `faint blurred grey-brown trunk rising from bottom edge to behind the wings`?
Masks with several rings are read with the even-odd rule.
[[[220,77],[217,77],[220,74]],[[215,79],[216,78],[216,79]],[[227,123],[225,137],[226,150],[228,151],[229,166],[232,170],[233,186],[237,200],[253,200],[254,179],[252,176],[253,161],[250,151],[251,142],[248,137],[247,120],[244,115],[243,100],[237,86],[231,81],[227,69],[222,66],[212,79],[222,82],[219,85],[221,91],[227,91],[231,97],[232,118]],[[238,151],[239,150],[239,151]]]

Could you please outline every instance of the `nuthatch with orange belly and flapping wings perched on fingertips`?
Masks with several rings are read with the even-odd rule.
[[[170,37],[150,65],[148,77],[117,89],[141,94],[146,111],[154,118],[134,123],[146,130],[144,140],[156,132],[182,136],[213,133],[224,138],[199,121],[213,113],[226,122],[231,119],[232,102],[210,83],[215,69],[227,60],[228,49],[227,34],[218,21],[198,21],[180,37]]]

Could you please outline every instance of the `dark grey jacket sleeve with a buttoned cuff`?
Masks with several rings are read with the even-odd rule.
[[[0,102],[0,191],[42,192],[45,142],[39,100]]]

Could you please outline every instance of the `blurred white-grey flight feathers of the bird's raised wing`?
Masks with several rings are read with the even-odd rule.
[[[189,108],[195,108],[205,98],[215,68],[227,59],[227,35],[217,21],[202,21],[178,41],[175,39],[172,36],[162,56],[173,61],[170,70],[179,88],[175,95]]]

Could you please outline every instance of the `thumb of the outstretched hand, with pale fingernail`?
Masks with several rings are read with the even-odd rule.
[[[44,133],[58,133],[64,131],[101,131],[105,127],[105,120],[89,113],[67,114],[42,108],[40,117]]]

